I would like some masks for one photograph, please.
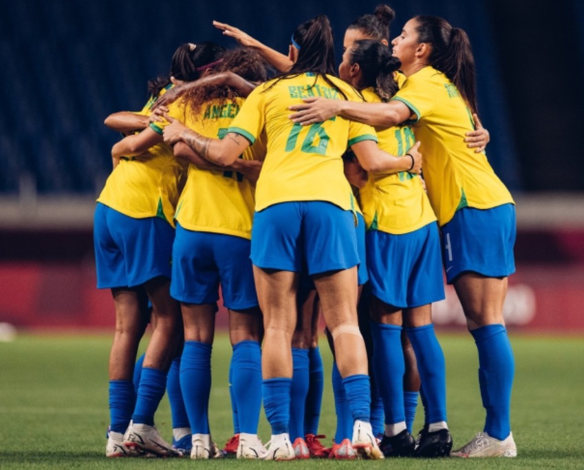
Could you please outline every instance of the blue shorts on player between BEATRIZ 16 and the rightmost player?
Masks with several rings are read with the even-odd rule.
[[[399,308],[444,299],[440,235],[435,222],[411,233],[367,232],[371,293]]]

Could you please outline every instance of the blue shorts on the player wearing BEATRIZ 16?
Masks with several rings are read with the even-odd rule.
[[[329,202],[283,202],[255,213],[252,262],[312,276],[359,264],[354,216]]]

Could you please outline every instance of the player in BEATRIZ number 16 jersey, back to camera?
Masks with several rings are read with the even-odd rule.
[[[289,122],[288,106],[303,96],[359,99],[354,89],[333,76],[334,50],[327,17],[316,17],[296,28],[290,58],[294,62],[290,71],[250,94],[222,140],[204,138],[176,121],[164,129],[164,139],[171,145],[184,141],[200,156],[226,165],[266,131],[268,153],[257,183],[252,262],[264,314],[262,389],[272,427],[267,458],[294,458],[288,435],[290,345],[303,264],[314,279],[334,339],[354,419],[352,444],[363,456],[382,458],[369,423],[367,354],[356,315],[359,259],[353,197],[341,156],[348,143],[369,170],[407,170],[412,162],[409,157],[396,158],[380,151],[371,127],[343,118],[312,128]],[[410,149],[415,155],[415,173],[421,171],[418,146]]]

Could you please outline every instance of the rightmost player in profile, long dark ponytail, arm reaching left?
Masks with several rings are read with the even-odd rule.
[[[418,16],[391,44],[407,81],[389,103],[316,100],[294,107],[299,112],[293,120],[311,125],[340,115],[383,126],[413,120],[416,138],[424,141],[424,177],[442,231],[446,279],[477,345],[486,409],[483,431],[451,455],[515,457],[510,429],[515,360],[503,318],[508,276],[515,272],[515,203],[485,153],[460,142],[477,113],[470,41],[442,18]],[[426,429],[422,442],[431,436]]]

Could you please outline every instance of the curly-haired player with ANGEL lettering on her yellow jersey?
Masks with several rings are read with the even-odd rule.
[[[266,68],[250,49],[226,52],[213,67],[248,81],[265,81]],[[210,70],[209,70],[210,72]],[[235,90],[208,85],[180,92],[168,116],[210,138],[222,137],[244,103]],[[168,121],[158,122],[162,132]],[[229,312],[233,346],[230,387],[237,409],[238,458],[266,453],[257,436],[261,407],[261,312],[250,261],[250,238],[257,180],[265,147],[262,140],[246,149],[229,169],[197,158],[188,146],[175,145],[177,158],[191,162],[177,206],[171,295],[181,303],[185,345],[180,381],[193,431],[191,458],[220,455],[208,423],[210,359],[219,284]],[[240,173],[241,172],[241,173]],[[245,173],[244,173],[245,172]],[[242,174],[243,173],[243,174]],[[252,178],[250,179],[250,175]]]

